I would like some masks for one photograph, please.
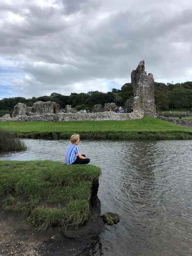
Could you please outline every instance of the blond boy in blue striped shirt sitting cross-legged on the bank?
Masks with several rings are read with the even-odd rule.
[[[83,165],[89,163],[90,159],[79,152],[79,134],[73,134],[70,138],[71,144],[67,147],[65,154],[66,165]]]

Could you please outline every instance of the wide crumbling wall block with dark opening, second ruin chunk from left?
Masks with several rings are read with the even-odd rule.
[[[57,114],[59,113],[59,104],[52,101],[37,101],[32,105],[31,112],[35,115]]]

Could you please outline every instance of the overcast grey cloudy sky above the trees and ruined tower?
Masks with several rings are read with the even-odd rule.
[[[191,0],[0,0],[0,99],[192,81]]]

